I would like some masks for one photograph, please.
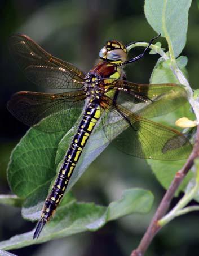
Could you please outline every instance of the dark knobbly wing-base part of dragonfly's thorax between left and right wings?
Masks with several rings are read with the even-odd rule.
[[[102,89],[99,86],[100,76],[92,73],[88,73],[85,76],[85,93],[89,97],[99,97],[103,94]]]

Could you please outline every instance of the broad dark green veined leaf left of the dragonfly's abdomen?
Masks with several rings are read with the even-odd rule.
[[[56,174],[55,155],[64,133],[42,133],[30,129],[12,151],[8,165],[11,190],[24,199],[23,212],[41,210]],[[30,219],[37,219],[32,216]]]

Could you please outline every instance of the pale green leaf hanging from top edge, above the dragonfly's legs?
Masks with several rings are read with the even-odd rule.
[[[148,23],[165,37],[171,54],[178,57],[187,35],[188,11],[191,0],[145,0],[144,12]]]

